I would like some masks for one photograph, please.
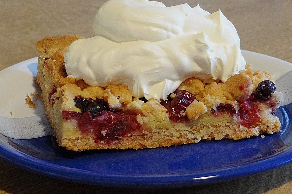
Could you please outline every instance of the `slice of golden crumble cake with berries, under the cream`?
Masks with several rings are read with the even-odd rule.
[[[268,72],[246,65],[224,83],[189,78],[167,100],[137,99],[126,85],[90,86],[67,75],[64,54],[79,38],[63,35],[36,43],[36,81],[59,146],[142,149],[280,130],[274,114],[281,93]]]

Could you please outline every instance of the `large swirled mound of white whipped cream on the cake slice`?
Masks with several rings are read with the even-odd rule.
[[[245,68],[236,29],[220,9],[110,0],[93,31],[69,46],[66,72],[89,85],[125,84],[136,98],[165,100],[187,78],[225,82]]]

